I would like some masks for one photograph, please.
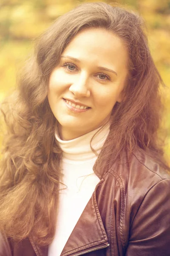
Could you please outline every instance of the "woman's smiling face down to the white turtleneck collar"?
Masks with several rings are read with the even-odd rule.
[[[115,103],[122,101],[127,58],[121,39],[104,29],[85,29],[67,45],[48,87],[62,140],[79,137],[108,121]]]

